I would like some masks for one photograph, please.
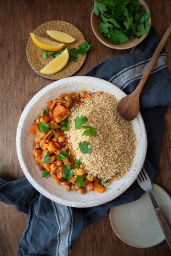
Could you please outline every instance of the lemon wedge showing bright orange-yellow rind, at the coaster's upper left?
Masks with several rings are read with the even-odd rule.
[[[42,36],[30,33],[31,39],[39,48],[47,51],[59,51],[64,47],[64,43],[57,43],[51,41],[48,38],[43,38]]]

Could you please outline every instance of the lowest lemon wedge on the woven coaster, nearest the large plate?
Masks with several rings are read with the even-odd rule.
[[[48,63],[42,70],[40,70],[40,73],[43,75],[53,75],[60,70],[62,70],[69,59],[69,52],[68,49],[64,50],[62,54],[58,55],[55,59],[51,60],[50,63]]]

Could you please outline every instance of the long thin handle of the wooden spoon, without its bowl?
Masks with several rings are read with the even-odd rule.
[[[154,51],[152,59],[150,60],[148,66],[146,67],[146,70],[144,71],[144,74],[140,80],[139,85],[136,87],[136,90],[135,90],[136,94],[140,95],[141,90],[143,89],[143,86],[144,86],[146,80],[148,79],[148,76],[149,76],[150,72],[152,71],[154,64],[156,63],[158,55],[160,54],[160,52],[162,50],[162,47],[164,47],[164,44],[170,35],[170,32],[171,32],[171,23],[170,23],[168,29],[165,31],[164,36],[162,36],[160,43],[158,44],[158,46],[156,48],[156,51]]]

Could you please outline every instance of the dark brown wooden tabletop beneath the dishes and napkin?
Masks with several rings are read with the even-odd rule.
[[[170,23],[171,1],[150,0],[152,23],[160,36]],[[89,21],[92,1],[76,0],[1,0],[1,94],[0,94],[0,174],[23,177],[15,149],[15,133],[19,117],[31,97],[51,83],[31,70],[26,58],[29,33],[46,22],[62,19],[73,23],[92,44],[86,62],[76,75],[83,75],[102,60],[128,51],[112,50],[93,35]],[[171,71],[171,38],[165,45],[168,68]],[[165,115],[159,174],[155,182],[171,194],[171,108]],[[25,214],[13,207],[0,204],[0,256],[17,255],[18,241],[26,225]],[[113,233],[108,216],[88,226],[76,239],[71,256],[169,256],[166,242],[150,249],[137,249],[126,245]]]

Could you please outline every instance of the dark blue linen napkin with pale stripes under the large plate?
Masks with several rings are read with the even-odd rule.
[[[156,31],[127,55],[100,63],[86,75],[108,80],[130,94],[149,63],[159,42]],[[148,150],[145,168],[153,181],[157,173],[160,140],[164,131],[166,106],[171,104],[171,78],[162,51],[141,93],[140,105]],[[115,200],[92,208],[70,208],[57,204],[37,192],[26,178],[11,181],[0,178],[0,200],[27,214],[27,225],[19,241],[19,256],[67,256],[75,238],[89,224],[105,216],[109,208],[137,200],[144,191],[135,181]]]

